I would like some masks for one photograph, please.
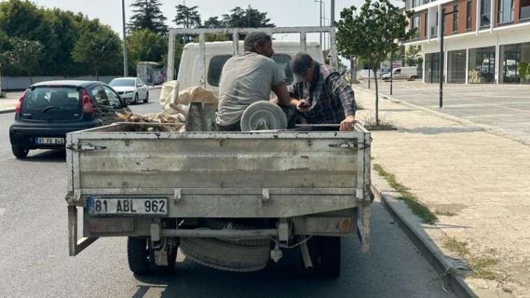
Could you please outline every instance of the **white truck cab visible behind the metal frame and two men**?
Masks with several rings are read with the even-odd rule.
[[[312,58],[324,63],[324,55],[322,54],[320,44],[318,42],[307,42],[307,52]],[[293,81],[293,75],[289,62],[294,54],[300,52],[300,42],[274,41],[274,61],[278,67],[285,70],[287,77],[287,84]],[[233,55],[233,47],[231,41],[225,42],[206,42],[206,89],[217,93],[219,91],[219,79],[221,76],[222,67],[227,60]],[[243,53],[243,41],[239,42],[239,52]],[[185,45],[181,64],[179,67],[179,89],[195,87],[200,85],[201,71],[199,68],[200,61],[200,47],[198,43],[188,43]]]

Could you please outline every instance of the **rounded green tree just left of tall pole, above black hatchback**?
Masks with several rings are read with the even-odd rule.
[[[117,33],[109,26],[101,25],[98,19],[84,22],[82,26],[82,33],[75,43],[72,57],[76,62],[91,65],[93,74],[99,80],[100,70],[105,65],[121,61],[121,40]]]

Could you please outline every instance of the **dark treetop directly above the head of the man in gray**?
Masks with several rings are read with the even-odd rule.
[[[229,14],[222,15],[221,22],[225,27],[231,28],[264,28],[275,26],[275,24],[270,23],[271,19],[267,17],[267,13],[262,13],[250,5],[247,9],[243,9],[240,6],[232,8]]]

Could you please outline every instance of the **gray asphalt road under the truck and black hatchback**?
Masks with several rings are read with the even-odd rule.
[[[159,109],[158,94],[133,111]],[[342,276],[336,281],[296,276],[293,253],[263,272],[219,272],[185,260],[177,272],[134,276],[126,240],[96,241],[68,256],[66,164],[62,152],[10,152],[13,113],[0,115],[0,297],[452,297],[379,203],[372,205],[372,248],[355,237],[342,242]],[[293,257],[293,256],[292,256]]]

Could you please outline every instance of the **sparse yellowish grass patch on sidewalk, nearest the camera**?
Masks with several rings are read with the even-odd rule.
[[[460,258],[467,260],[475,276],[481,279],[491,280],[499,280],[501,278],[497,272],[491,269],[499,261],[489,256],[471,256],[467,242],[458,241],[454,237],[448,237],[443,246],[457,253]]]

